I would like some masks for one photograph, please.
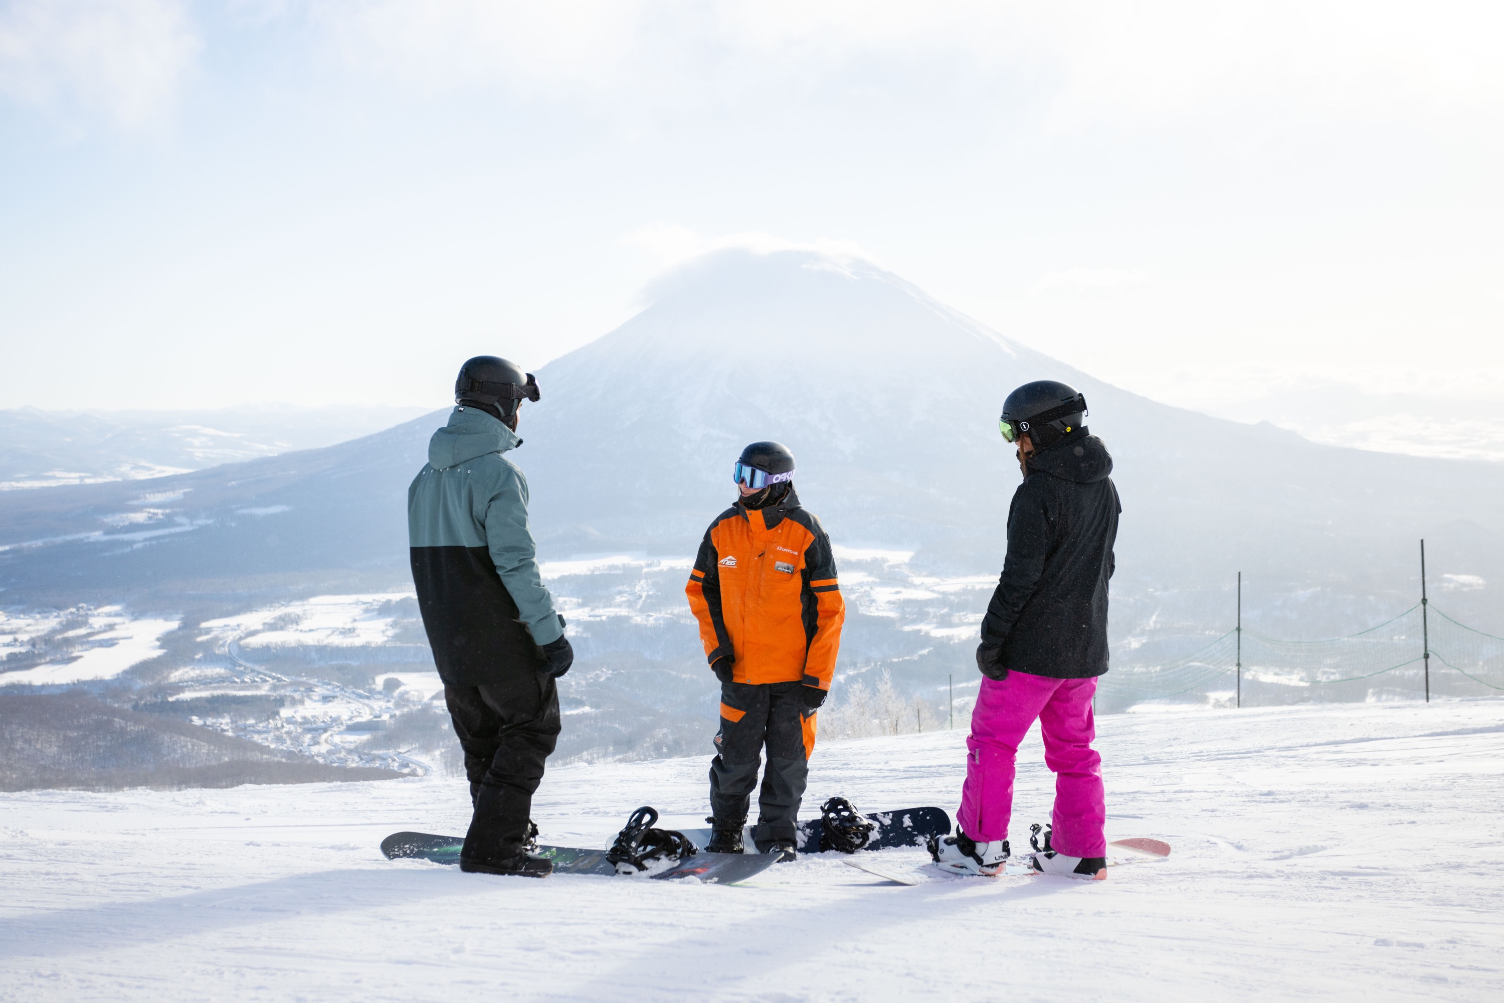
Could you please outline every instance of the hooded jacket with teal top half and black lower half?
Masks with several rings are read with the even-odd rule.
[[[445,683],[499,683],[541,660],[564,633],[538,574],[528,481],[502,453],[522,439],[475,408],[456,408],[408,487],[408,544],[418,609]]]

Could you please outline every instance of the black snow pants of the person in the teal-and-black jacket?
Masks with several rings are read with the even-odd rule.
[[[532,794],[559,737],[558,687],[525,663],[501,683],[447,683],[444,699],[465,750],[475,808],[460,854],[471,860],[510,857],[526,839]]]

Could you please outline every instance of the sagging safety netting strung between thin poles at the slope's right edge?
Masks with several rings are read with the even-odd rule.
[[[1417,603],[1346,638],[1281,641],[1244,627],[1164,665],[1113,666],[1098,683],[1098,710],[1149,701],[1260,707],[1420,699],[1427,651],[1432,698],[1504,693],[1504,638]]]

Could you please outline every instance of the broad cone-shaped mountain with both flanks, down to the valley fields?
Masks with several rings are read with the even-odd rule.
[[[692,553],[741,445],[772,438],[794,450],[800,495],[838,543],[996,573],[1018,478],[997,412],[1012,386],[1051,377],[1086,392],[1116,462],[1125,626],[1226,620],[1238,570],[1289,595],[1292,615],[1364,626],[1418,592],[1421,535],[1439,537],[1438,570],[1486,580],[1469,603],[1496,595],[1504,465],[1319,447],[1167,408],[865,262],[722,251],[654,295],[538,370],[543,400],[523,406],[510,456],[529,475],[544,558]],[[180,608],[402,582],[405,490],[442,420],[150,481],[6,492],[5,600]]]

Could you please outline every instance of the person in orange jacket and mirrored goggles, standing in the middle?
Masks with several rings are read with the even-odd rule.
[[[741,498],[710,523],[684,586],[720,680],[705,848],[744,851],[741,827],[767,746],[752,839],[758,851],[793,860],[815,711],[830,692],[845,603],[830,537],[794,493],[788,447],[754,442],[734,475]]]

